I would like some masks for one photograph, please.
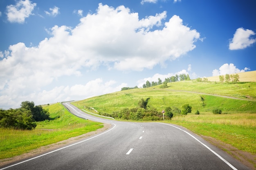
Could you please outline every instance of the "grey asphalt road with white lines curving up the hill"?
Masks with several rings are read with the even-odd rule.
[[[249,170],[180,126],[101,119],[73,114],[111,128],[74,144],[2,167],[8,170]]]

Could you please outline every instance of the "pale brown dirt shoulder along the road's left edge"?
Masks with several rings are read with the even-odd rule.
[[[24,153],[24,154],[18,155],[16,157],[7,158],[7,159],[1,159],[0,160],[0,166],[4,166],[4,165],[7,165],[9,163],[20,161],[20,160],[25,159],[25,158],[33,157],[33,156],[36,156],[36,155],[38,155],[38,154],[40,154],[42,152],[47,152],[49,150],[54,150],[56,148],[61,148],[62,146],[65,146],[67,144],[72,144],[72,143],[75,143],[78,140],[85,139],[85,138],[90,137],[92,135],[95,135],[97,133],[103,132],[104,130],[107,130],[110,127],[111,127],[111,124],[104,124],[103,128],[97,129],[95,131],[88,132],[88,133],[85,133],[85,134],[77,136],[77,137],[71,137],[70,139],[67,139],[67,140],[64,140],[64,141],[60,141],[60,142],[58,142],[56,144],[50,144],[50,145],[47,145],[47,146],[41,146],[40,148],[31,150],[28,153]]]

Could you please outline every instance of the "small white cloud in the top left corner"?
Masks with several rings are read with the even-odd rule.
[[[32,3],[29,0],[20,0],[17,1],[15,5],[8,5],[6,7],[7,20],[9,22],[18,22],[22,24],[29,15],[34,15],[32,13],[34,7],[36,7],[36,3]]]

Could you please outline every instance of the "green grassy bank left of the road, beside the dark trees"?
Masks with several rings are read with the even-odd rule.
[[[102,123],[81,119],[69,113],[64,106],[43,106],[53,120],[37,122],[34,130],[0,128],[0,159],[10,158],[30,150],[76,137],[102,128]]]

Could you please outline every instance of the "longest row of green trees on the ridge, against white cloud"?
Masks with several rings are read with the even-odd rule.
[[[167,83],[171,83],[171,82],[178,82],[178,81],[184,81],[184,80],[190,80],[189,74],[180,74],[180,75],[173,75],[171,77],[167,77],[164,79],[164,82],[162,82],[162,79],[158,78],[158,82],[149,82],[148,80],[146,81],[145,84],[143,84],[143,88],[148,88],[148,87],[152,87],[152,86],[157,86],[157,85],[163,85],[163,88],[167,87]]]

